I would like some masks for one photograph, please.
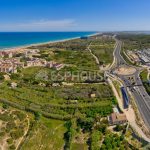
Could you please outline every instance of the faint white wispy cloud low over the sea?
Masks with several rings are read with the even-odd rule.
[[[76,21],[73,19],[64,20],[39,20],[25,23],[0,24],[1,31],[53,31],[66,30],[75,27]]]

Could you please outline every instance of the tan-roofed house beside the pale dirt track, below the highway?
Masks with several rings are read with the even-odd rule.
[[[127,122],[127,118],[125,114],[112,113],[108,117],[109,124],[111,125],[119,125]]]

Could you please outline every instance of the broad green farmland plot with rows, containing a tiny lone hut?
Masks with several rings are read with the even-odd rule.
[[[73,116],[76,109],[89,117],[96,113],[107,115],[115,102],[111,88],[105,84],[74,85],[72,87],[41,87],[24,85],[12,89],[0,86],[0,99],[53,115]],[[91,97],[94,95],[94,97]]]

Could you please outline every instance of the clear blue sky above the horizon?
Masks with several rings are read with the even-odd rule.
[[[150,31],[150,0],[0,0],[0,31]]]

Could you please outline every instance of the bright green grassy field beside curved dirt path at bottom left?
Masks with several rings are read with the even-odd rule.
[[[21,150],[60,150],[64,147],[64,122],[41,117],[22,145]]]

